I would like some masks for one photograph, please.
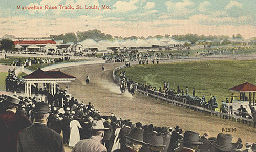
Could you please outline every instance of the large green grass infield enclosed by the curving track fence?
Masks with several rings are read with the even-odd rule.
[[[179,85],[184,92],[188,86],[189,94],[192,94],[192,88],[195,87],[196,95],[205,95],[206,100],[209,100],[210,95],[215,95],[219,103],[226,97],[230,98],[229,88],[244,82],[256,84],[256,60],[150,64],[132,66],[121,71],[124,70],[128,78],[157,88],[166,81],[170,88],[177,90]]]

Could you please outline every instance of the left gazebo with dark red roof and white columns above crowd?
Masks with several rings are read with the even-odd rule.
[[[70,83],[75,79],[76,77],[63,73],[60,70],[42,71],[38,68],[31,74],[23,76],[23,80],[25,82],[25,95],[30,97],[32,96],[31,85],[34,85],[35,83],[49,83],[51,85],[49,91],[54,95],[56,93],[57,83]]]

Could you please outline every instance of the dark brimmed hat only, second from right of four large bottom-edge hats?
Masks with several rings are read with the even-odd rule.
[[[178,141],[188,144],[188,145],[201,145],[202,142],[199,142],[199,133],[193,131],[186,131],[184,133],[183,139],[178,139]]]

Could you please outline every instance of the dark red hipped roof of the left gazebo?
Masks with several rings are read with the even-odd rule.
[[[37,69],[29,75],[23,76],[24,79],[75,79],[71,75],[63,73],[61,71],[42,71]]]

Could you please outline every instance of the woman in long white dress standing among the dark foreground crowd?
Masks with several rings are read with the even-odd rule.
[[[69,139],[69,146],[74,147],[75,144],[80,141],[80,134],[79,134],[79,129],[82,128],[80,123],[77,120],[72,120],[70,122],[70,139]]]

